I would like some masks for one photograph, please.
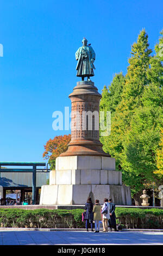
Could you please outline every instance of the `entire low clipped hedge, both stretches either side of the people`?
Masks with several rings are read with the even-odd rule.
[[[0,227],[16,228],[85,228],[83,209],[23,210],[0,209]],[[116,221],[122,228],[163,228],[163,210],[116,208]]]

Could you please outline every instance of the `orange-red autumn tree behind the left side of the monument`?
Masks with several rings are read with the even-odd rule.
[[[68,148],[68,143],[71,141],[71,135],[55,136],[54,139],[49,139],[44,145],[45,151],[43,158],[48,159],[51,169],[55,169],[55,159]]]

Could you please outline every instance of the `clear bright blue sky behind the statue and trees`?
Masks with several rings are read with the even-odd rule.
[[[71,107],[75,52],[86,37],[96,52],[92,81],[102,92],[126,74],[142,28],[152,50],[162,29],[161,0],[2,0],[0,16],[0,161],[43,161],[52,113]]]

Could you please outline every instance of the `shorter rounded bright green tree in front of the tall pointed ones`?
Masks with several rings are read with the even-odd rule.
[[[141,107],[136,111],[123,143],[123,181],[131,187],[137,205],[143,188],[151,188],[153,181],[158,183],[154,172],[157,169],[156,150],[160,142],[161,119],[159,109],[155,110],[152,107]]]

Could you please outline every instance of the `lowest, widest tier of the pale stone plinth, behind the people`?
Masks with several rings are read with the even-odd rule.
[[[111,197],[116,205],[131,205],[130,187],[116,185],[43,185],[40,204],[83,205],[89,196],[93,203]]]

